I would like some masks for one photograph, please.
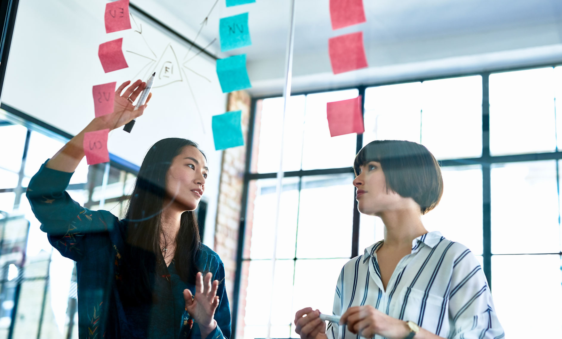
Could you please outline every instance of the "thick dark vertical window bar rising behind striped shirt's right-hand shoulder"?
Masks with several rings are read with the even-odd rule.
[[[484,274],[492,289],[492,209],[490,169],[490,73],[482,74],[482,257]]]

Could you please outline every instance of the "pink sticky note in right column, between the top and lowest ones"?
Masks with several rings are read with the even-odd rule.
[[[367,67],[363,32],[339,35],[328,40],[330,62],[334,74]]]

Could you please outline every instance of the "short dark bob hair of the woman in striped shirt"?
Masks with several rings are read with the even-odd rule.
[[[433,210],[443,195],[443,178],[435,157],[425,146],[402,140],[375,140],[355,156],[353,171],[370,161],[380,163],[387,189],[405,198],[413,198],[422,214]]]

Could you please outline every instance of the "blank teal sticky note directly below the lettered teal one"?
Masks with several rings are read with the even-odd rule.
[[[216,75],[219,76],[223,93],[250,88],[250,78],[246,71],[246,55],[235,55],[216,61]]]

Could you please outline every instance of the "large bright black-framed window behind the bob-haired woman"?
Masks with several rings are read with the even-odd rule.
[[[365,133],[330,138],[326,102],[357,95]],[[330,313],[342,265],[383,238],[379,218],[354,213],[351,168],[357,145],[382,139],[422,143],[439,160],[443,197],[422,220],[477,256],[506,336],[562,336],[561,67],[291,97],[273,277],[283,99],[254,102],[237,338],[265,337],[270,308],[280,338],[297,336],[296,310]],[[531,322],[519,321],[521,309],[537,310]]]

